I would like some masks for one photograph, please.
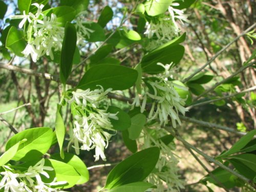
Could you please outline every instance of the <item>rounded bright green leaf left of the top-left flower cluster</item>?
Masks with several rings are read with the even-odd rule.
[[[19,57],[23,57],[22,51],[26,47],[23,32],[16,27],[11,27],[6,39],[6,48]]]

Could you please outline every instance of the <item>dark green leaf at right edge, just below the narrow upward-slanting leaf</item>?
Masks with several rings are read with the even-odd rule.
[[[256,155],[254,154],[240,154],[229,156],[227,159],[237,159],[248,166],[254,172],[254,176],[256,176]]]

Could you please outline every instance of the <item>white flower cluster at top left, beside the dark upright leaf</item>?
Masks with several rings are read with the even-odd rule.
[[[51,17],[42,13],[44,5],[37,3],[32,4],[37,7],[35,14],[29,12],[28,15],[23,12],[23,15],[15,15],[13,19],[21,19],[19,28],[27,29],[28,44],[23,50],[23,54],[27,57],[31,55],[32,60],[36,62],[41,56],[47,55],[54,59],[53,51],[60,51],[64,37],[64,28],[60,27],[57,22],[57,16],[51,14]],[[26,25],[28,21],[29,25]]]

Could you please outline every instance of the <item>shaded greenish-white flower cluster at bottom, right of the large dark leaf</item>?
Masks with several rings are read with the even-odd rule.
[[[147,177],[147,181],[157,186],[156,189],[152,190],[154,192],[180,191],[180,189],[184,188],[184,181],[182,181],[178,175],[179,167],[177,164],[179,160],[173,153],[175,146],[172,142],[166,145],[161,141],[160,138],[167,133],[159,127],[160,126],[154,127],[156,130],[154,137],[146,129],[143,129],[142,132],[145,148],[152,146],[158,146],[160,148],[160,157],[156,164],[156,170]]]

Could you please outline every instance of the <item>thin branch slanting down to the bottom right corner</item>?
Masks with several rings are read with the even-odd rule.
[[[188,143],[187,141],[185,141],[182,137],[179,136],[179,133],[176,131],[174,131],[172,128],[170,127],[165,127],[165,130],[168,131],[169,133],[173,134],[175,136],[175,138],[179,141],[181,141],[186,147],[191,148],[192,150],[194,150],[195,152],[197,152],[199,155],[203,156],[207,161],[212,162],[218,166],[220,166],[221,168],[227,170],[229,173],[233,174],[234,176],[237,176],[239,179],[243,180],[244,182],[248,183],[249,185],[251,185],[253,188],[256,189],[256,186],[253,184],[253,182],[249,179],[247,179],[246,177],[244,177],[243,175],[235,172],[234,170],[230,169],[229,167],[223,165],[222,163],[220,163],[219,161],[215,160],[214,158],[206,155],[205,153],[203,153],[202,151],[200,151],[197,147],[191,145],[190,143]]]

